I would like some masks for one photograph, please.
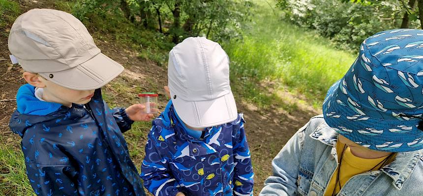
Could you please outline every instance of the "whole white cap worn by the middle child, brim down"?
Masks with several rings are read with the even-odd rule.
[[[175,111],[188,126],[212,127],[237,118],[229,58],[218,43],[186,38],[169,52],[168,76]]]

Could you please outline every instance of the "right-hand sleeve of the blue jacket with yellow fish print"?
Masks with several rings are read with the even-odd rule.
[[[240,138],[234,147],[234,189],[235,196],[252,196],[254,173],[251,165],[251,155],[245,136],[243,120],[240,124]]]

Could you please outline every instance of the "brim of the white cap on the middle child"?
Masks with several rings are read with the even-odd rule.
[[[232,122],[238,111],[232,92],[207,101],[185,101],[172,99],[178,116],[188,126],[205,128]]]

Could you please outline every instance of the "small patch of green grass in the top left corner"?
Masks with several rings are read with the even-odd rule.
[[[11,25],[20,13],[19,4],[12,0],[0,0],[0,31],[4,36],[8,36],[3,29]]]

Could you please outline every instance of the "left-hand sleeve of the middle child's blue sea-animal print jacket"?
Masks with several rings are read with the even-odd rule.
[[[163,157],[162,152],[156,146],[159,141],[151,134],[155,129],[156,126],[153,126],[148,136],[146,157],[141,166],[141,178],[144,181],[144,186],[154,196],[176,196],[183,190],[170,172],[167,157]]]

